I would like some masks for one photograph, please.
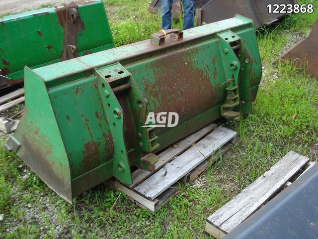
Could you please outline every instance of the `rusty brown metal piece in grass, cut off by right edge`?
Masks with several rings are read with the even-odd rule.
[[[318,78],[318,19],[310,35],[279,57],[282,63],[292,61],[297,68]]]

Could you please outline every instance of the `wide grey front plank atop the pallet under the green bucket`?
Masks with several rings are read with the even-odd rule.
[[[135,187],[135,191],[154,200],[172,184],[210,157],[237,135],[225,127],[218,127],[176,159],[162,167],[156,174]]]

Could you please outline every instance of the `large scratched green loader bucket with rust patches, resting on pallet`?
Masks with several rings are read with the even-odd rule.
[[[131,166],[152,171],[158,150],[222,116],[251,112],[261,61],[250,19],[171,34],[159,45],[26,68],[26,111],[6,147],[71,202],[112,176],[131,183]],[[179,122],[141,127],[152,112],[175,112]]]

